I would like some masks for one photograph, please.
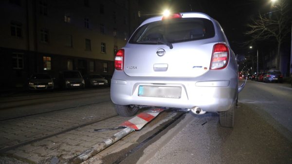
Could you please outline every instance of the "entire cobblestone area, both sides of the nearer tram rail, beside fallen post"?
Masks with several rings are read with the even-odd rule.
[[[54,157],[57,157],[58,160],[72,158],[117,132],[96,132],[94,129],[114,128],[126,119],[128,118],[117,116],[113,104],[111,101],[107,101],[1,121],[0,150],[2,153],[0,164],[43,164],[50,163]],[[92,122],[96,123],[53,135]],[[38,138],[44,139],[38,140]],[[34,140],[36,141],[30,142]],[[11,149],[11,147],[19,146],[21,143],[29,144]],[[7,148],[10,150],[5,151]]]

